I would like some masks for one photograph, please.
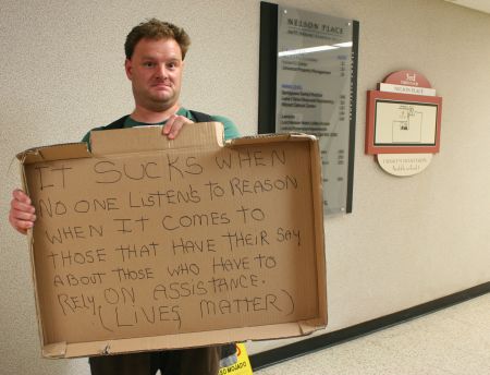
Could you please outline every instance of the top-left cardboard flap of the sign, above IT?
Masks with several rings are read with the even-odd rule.
[[[17,154],[16,157],[23,164],[29,165],[42,161],[88,158],[90,157],[90,153],[88,152],[87,144],[79,142],[34,147]]]

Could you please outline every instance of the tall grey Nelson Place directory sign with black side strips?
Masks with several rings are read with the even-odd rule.
[[[319,138],[324,213],[351,213],[357,21],[261,2],[259,133]]]

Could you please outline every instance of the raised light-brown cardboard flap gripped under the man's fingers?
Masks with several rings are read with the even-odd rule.
[[[162,126],[136,126],[90,132],[95,156],[159,149],[212,148],[223,146],[223,124],[200,122],[184,125],[175,140],[161,134]]]

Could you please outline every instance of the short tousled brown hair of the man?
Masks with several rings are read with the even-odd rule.
[[[181,47],[182,60],[185,58],[188,46],[191,45],[191,38],[187,33],[182,27],[175,26],[169,22],[163,22],[157,19],[150,19],[146,22],[142,22],[139,25],[133,27],[133,29],[127,34],[126,43],[124,44],[124,52],[126,53],[126,59],[131,59],[134,52],[134,48],[137,43],[143,38],[148,39],[175,39]]]

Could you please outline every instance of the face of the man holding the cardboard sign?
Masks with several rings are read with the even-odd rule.
[[[125,62],[136,106],[164,111],[177,105],[183,68],[181,47],[174,39],[139,40]]]

